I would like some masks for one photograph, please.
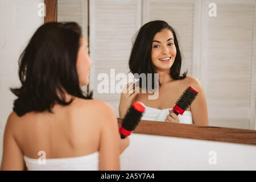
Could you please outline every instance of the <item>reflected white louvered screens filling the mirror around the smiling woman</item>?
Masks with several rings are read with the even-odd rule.
[[[89,88],[117,115],[123,82],[134,81],[128,67],[134,35],[160,19],[177,33],[181,73],[188,70],[204,88],[209,126],[255,130],[255,6],[251,0],[58,0],[57,21],[82,27],[93,60]]]

